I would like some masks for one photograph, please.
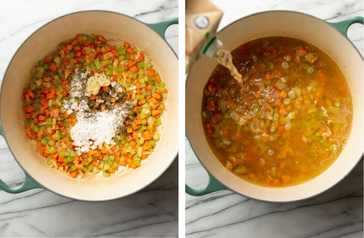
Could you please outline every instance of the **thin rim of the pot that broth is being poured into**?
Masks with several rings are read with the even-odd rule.
[[[360,55],[360,58],[361,60],[364,61],[363,59],[363,56],[360,54],[359,50],[356,48],[356,46],[352,43],[352,41],[346,36],[343,34],[343,32],[339,31],[337,28],[335,28],[334,26],[332,26],[329,22],[323,20],[323,19],[320,19],[320,18],[317,18],[316,16],[312,16],[310,14],[306,14],[304,12],[297,12],[297,11],[290,11],[290,10],[271,10],[271,11],[261,11],[261,12],[256,12],[256,13],[253,13],[253,14],[250,14],[250,15],[246,15],[246,16],[243,16],[242,18],[239,18],[237,20],[234,20],[233,22],[227,24],[226,26],[224,26],[221,30],[219,30],[217,33],[216,33],[216,36],[218,36],[219,33],[221,33],[223,30],[225,30],[226,28],[230,27],[232,24],[234,23],[237,23],[239,22],[240,20],[243,20],[245,18],[249,18],[250,16],[255,16],[255,15],[259,15],[259,14],[265,14],[265,13],[269,13],[269,12],[284,12],[284,13],[294,13],[294,14],[299,14],[299,15],[304,15],[304,16],[308,16],[310,18],[313,18],[313,19],[316,19],[316,20],[319,20],[325,24],[327,24],[328,26],[330,26],[333,30],[339,32],[351,45],[352,47],[354,47],[354,49],[356,50],[357,54]],[[190,72],[187,74],[187,77],[186,77],[186,83],[185,85],[187,85],[187,81],[189,80],[190,78]],[[301,200],[306,200],[306,199],[310,199],[312,197],[315,197],[315,196],[318,196],[320,195],[321,193],[324,193],[326,191],[328,191],[329,189],[331,189],[332,187],[334,187],[335,185],[337,185],[338,183],[340,183],[345,177],[348,176],[349,173],[352,172],[352,170],[357,166],[357,164],[359,164],[359,162],[363,159],[364,157],[364,152],[361,154],[361,157],[357,160],[357,162],[355,163],[355,165],[352,167],[351,170],[348,171],[347,174],[345,174],[345,176],[343,176],[340,180],[337,181],[337,183],[325,188],[323,191],[319,192],[319,193],[316,193],[312,196],[308,196],[308,197],[304,197],[304,198],[301,198],[301,199],[295,199],[295,200],[288,200],[288,201],[270,201],[270,200],[264,200],[264,199],[258,199],[258,198],[255,198],[255,197],[250,197],[250,196],[247,196],[241,192],[238,192],[232,188],[230,188],[229,185],[226,185],[225,183],[223,183],[222,181],[220,181],[216,176],[215,174],[211,173],[210,170],[207,168],[207,166],[205,164],[203,164],[203,162],[201,161],[201,159],[197,156],[197,153],[195,151],[195,148],[193,147],[192,143],[191,143],[191,140],[189,138],[189,135],[188,135],[188,132],[187,132],[187,126],[185,125],[185,137],[187,138],[187,141],[189,142],[190,146],[191,146],[191,149],[193,151],[193,153],[195,154],[195,157],[198,159],[198,161],[200,162],[200,164],[203,166],[203,168],[206,170],[206,172],[212,176],[216,181],[218,181],[220,184],[222,184],[226,190],[229,190],[229,191],[232,191],[232,192],[235,192],[235,193],[238,193],[242,196],[245,196],[245,197],[248,197],[249,199],[254,199],[254,200],[257,200],[257,201],[264,201],[264,202],[269,202],[269,203],[288,203],[288,202],[295,202],[295,201],[301,201]],[[309,180],[310,181],[310,180]],[[306,181],[308,182],[308,181]],[[259,185],[257,185],[259,186]]]

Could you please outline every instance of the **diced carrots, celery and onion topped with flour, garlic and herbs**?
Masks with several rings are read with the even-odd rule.
[[[143,51],[79,34],[32,70],[24,92],[26,134],[65,175],[108,177],[153,153],[166,96]]]

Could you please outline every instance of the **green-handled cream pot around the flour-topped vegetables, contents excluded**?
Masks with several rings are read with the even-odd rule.
[[[164,38],[166,28],[177,23],[178,19],[174,18],[145,24],[116,12],[86,11],[62,16],[34,32],[12,58],[2,82],[0,96],[0,134],[24,170],[25,181],[19,187],[9,187],[0,180],[0,188],[6,192],[18,193],[43,187],[72,199],[105,201],[135,193],[157,179],[178,153],[178,100],[175,96],[178,95],[178,59]],[[73,179],[48,166],[45,158],[40,156],[25,135],[22,95],[30,70],[36,62],[55,50],[59,43],[70,41],[79,33],[99,34],[109,42],[127,41],[139,47],[152,59],[169,90],[161,139],[154,153],[142,161],[141,167],[137,169],[122,170],[111,177],[96,174],[92,178],[84,176]]]

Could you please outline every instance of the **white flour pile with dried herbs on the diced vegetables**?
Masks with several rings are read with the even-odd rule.
[[[70,83],[71,96],[74,98],[68,100],[64,106],[68,114],[71,114],[73,110],[77,111],[77,123],[71,128],[70,134],[74,146],[77,146],[75,150],[83,153],[96,149],[104,143],[114,145],[112,138],[120,133],[125,116],[132,107],[131,103],[126,101],[125,104],[114,106],[107,111],[90,109],[87,105],[88,97],[85,96],[86,82],[87,73],[76,69]],[[75,98],[78,98],[80,102],[77,103]]]

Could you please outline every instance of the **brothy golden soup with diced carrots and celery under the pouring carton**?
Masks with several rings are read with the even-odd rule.
[[[352,98],[323,51],[288,37],[232,51],[243,87],[218,65],[204,89],[202,120],[217,158],[251,183],[282,187],[327,169],[349,135]]]

